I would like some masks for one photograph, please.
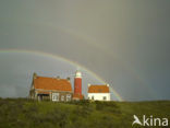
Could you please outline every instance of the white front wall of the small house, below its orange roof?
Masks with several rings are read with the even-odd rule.
[[[110,101],[110,93],[88,93],[89,100],[92,100],[93,96],[95,101],[104,101],[104,96],[106,96],[106,101]]]

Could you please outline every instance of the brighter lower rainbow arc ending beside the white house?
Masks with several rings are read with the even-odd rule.
[[[27,49],[0,49],[0,53],[19,53],[19,54],[35,54],[35,55],[40,55],[44,57],[50,57],[52,59],[59,59],[61,61],[65,61],[72,66],[76,66],[83,70],[85,70],[86,72],[90,73],[94,78],[96,78],[97,80],[99,80],[101,83],[107,83],[106,81],[104,81],[99,75],[97,75],[95,72],[88,70],[87,68],[85,68],[84,66],[80,65],[78,62],[75,61],[71,61],[66,58],[53,55],[53,54],[49,54],[49,53],[44,53],[44,51],[38,51],[38,50],[27,50]],[[119,101],[123,101],[123,98],[120,96],[120,94],[111,86],[110,88],[111,92],[114,94],[114,96],[119,100]]]

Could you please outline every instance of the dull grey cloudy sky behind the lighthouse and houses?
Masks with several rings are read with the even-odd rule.
[[[84,93],[104,80],[123,100],[170,100],[169,7],[169,0],[1,0],[0,96],[27,96],[34,71],[64,78],[82,66]]]

